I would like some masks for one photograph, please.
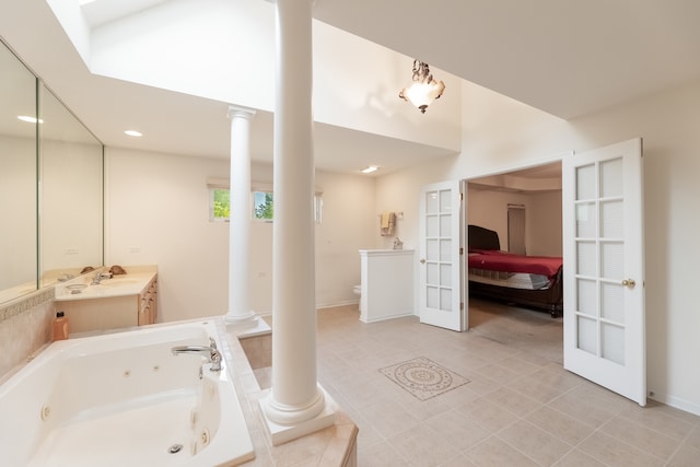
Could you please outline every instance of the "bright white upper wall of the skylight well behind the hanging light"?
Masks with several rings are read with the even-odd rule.
[[[84,31],[70,13],[56,11],[81,47]],[[319,21],[313,30],[316,121],[459,149],[459,79],[433,69],[451,98],[428,115],[408,113],[397,94],[411,83],[412,58]],[[271,112],[275,54],[272,3],[180,0],[92,31],[86,65],[96,74]]]

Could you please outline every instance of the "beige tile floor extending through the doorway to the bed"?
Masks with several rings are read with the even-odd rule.
[[[562,322],[472,299],[468,332],[318,312],[318,380],[372,466],[700,466],[700,417],[641,408],[561,366]],[[470,380],[421,401],[380,373],[418,357]]]

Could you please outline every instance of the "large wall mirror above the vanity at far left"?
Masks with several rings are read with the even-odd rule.
[[[0,42],[0,303],[101,267],[103,144]]]

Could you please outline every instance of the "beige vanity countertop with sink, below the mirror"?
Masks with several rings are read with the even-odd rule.
[[[155,267],[125,267],[126,275],[117,275],[112,279],[102,279],[100,284],[92,284],[93,275],[77,278],[56,285],[57,302],[73,300],[107,299],[112,296],[138,295],[153,280],[158,273]],[[75,293],[69,288],[73,284],[86,287]]]

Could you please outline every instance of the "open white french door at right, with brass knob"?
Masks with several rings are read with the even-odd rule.
[[[646,405],[642,141],[562,161],[564,367]]]

